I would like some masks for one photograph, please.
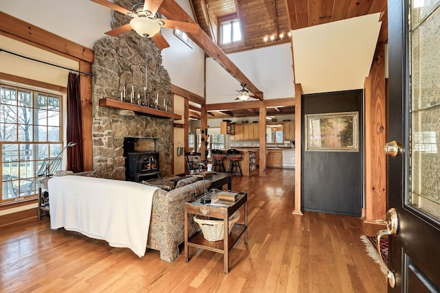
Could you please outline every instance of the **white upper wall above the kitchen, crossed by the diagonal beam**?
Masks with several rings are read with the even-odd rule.
[[[264,99],[294,97],[291,44],[253,49],[228,57],[264,93]],[[215,60],[206,60],[206,104],[234,101],[240,83]],[[249,99],[249,101],[254,99]]]

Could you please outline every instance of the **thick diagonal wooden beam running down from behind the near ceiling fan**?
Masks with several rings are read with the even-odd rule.
[[[186,21],[189,23],[194,23],[191,17],[183,10],[174,0],[164,0],[162,5],[160,5],[159,12],[163,14],[167,19],[174,19],[176,21]],[[241,72],[241,70],[234,65],[234,63],[226,56],[226,54],[217,46],[212,39],[203,32],[201,27],[199,27],[199,32],[196,34],[187,33],[188,37],[196,43],[203,51],[214,59],[221,67],[223,67],[233,78],[239,82],[246,84],[246,89],[255,93],[260,90],[246,77],[246,75]],[[259,97],[263,99],[263,95]]]

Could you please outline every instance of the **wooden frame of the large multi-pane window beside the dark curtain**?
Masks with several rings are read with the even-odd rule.
[[[12,75],[11,75],[12,76]],[[13,139],[5,139],[3,140],[3,137],[0,137],[0,148],[2,152],[0,152],[0,159],[1,159],[1,165],[0,165],[0,172],[2,174],[2,190],[1,190],[1,196],[0,196],[0,206],[4,204],[10,204],[12,202],[22,202],[23,200],[32,200],[34,198],[38,197],[38,186],[39,186],[39,180],[41,177],[39,177],[39,174],[36,174],[41,165],[45,163],[45,159],[43,157],[39,157],[39,152],[43,148],[43,154],[44,156],[47,156],[49,158],[49,163],[52,163],[51,159],[55,159],[56,155],[63,149],[63,138],[65,137],[65,131],[63,127],[63,121],[65,119],[65,112],[64,112],[64,103],[65,98],[67,95],[67,89],[63,86],[56,86],[53,84],[46,84],[44,82],[37,82],[34,80],[28,80],[26,78],[20,78],[19,81],[14,80],[14,78],[5,79],[4,76],[0,78],[0,86],[12,88],[17,93],[16,100],[19,101],[19,93],[21,91],[23,92],[30,92],[31,100],[29,104],[23,105],[17,102],[17,113],[20,113],[20,110],[23,110],[23,108],[31,109],[30,110],[30,119],[29,123],[25,123],[23,125],[30,126],[30,129],[26,130],[29,132],[32,132],[31,137],[26,137],[25,139],[20,139],[19,130],[17,130],[17,137],[14,137]],[[36,102],[39,100],[40,97],[45,96],[45,106],[41,106],[36,104]],[[50,97],[54,97],[55,99],[58,99],[58,104],[54,105],[54,108],[50,108]],[[55,100],[53,99],[53,101]],[[3,99],[1,100],[1,105],[8,104],[3,103]],[[14,106],[15,107],[15,106]],[[8,108],[10,108],[8,106]],[[43,112],[41,112],[43,110]],[[46,119],[46,123],[41,124],[41,115],[43,113],[43,116]],[[50,121],[50,113],[54,114],[52,117],[56,117],[55,122]],[[52,123],[51,123],[52,122]],[[12,123],[15,125],[20,125],[21,122],[19,121],[19,118],[17,118],[17,121],[15,123]],[[39,128],[45,128],[45,139],[41,140],[41,137],[39,138],[38,135],[36,135],[36,131],[39,130]],[[56,134],[58,137],[55,139],[51,139],[49,137],[49,132],[52,127],[58,128],[58,133]],[[26,140],[28,139],[28,140]],[[15,154],[11,156],[14,156],[14,159],[12,161],[5,161],[3,158],[3,146],[9,145],[14,151]],[[14,146],[15,145],[15,146]],[[26,145],[28,145],[30,148],[26,148]],[[25,147],[23,149],[23,146]],[[26,150],[25,154],[23,153],[23,150]],[[24,158],[26,156],[27,158]],[[30,158],[28,158],[30,156]],[[11,157],[12,158],[12,157]],[[57,159],[58,161],[58,159]],[[3,174],[3,168],[4,167],[12,167],[12,165],[17,165],[17,168],[14,171],[14,174],[10,172],[11,174]],[[15,167],[13,167],[15,168]],[[23,168],[23,170],[21,170]],[[11,169],[10,169],[11,170]],[[23,172],[22,172],[23,171]],[[54,171],[54,170],[51,170]],[[23,173],[23,174],[22,174]],[[17,176],[13,176],[17,175]],[[6,178],[8,176],[8,178]],[[17,185],[18,183],[18,185]],[[27,192],[21,192],[21,188],[23,188],[24,184],[28,183],[28,189]],[[7,188],[6,188],[7,187]],[[3,199],[3,193],[4,191],[7,191],[8,194],[10,194],[9,188],[14,188],[14,197],[11,198],[4,198]]]

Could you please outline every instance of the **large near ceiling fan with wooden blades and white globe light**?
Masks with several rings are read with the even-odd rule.
[[[126,10],[107,0],[90,0],[92,2],[104,5],[107,8],[111,8],[122,14],[126,14],[132,17],[130,23],[116,27],[105,34],[109,36],[119,36],[124,32],[128,32],[133,29],[137,34],[145,38],[153,38],[159,49],[165,49],[170,47],[164,36],[160,33],[161,27],[167,27],[170,29],[177,29],[183,32],[189,32],[195,34],[199,31],[199,25],[197,23],[188,23],[185,21],[173,21],[170,19],[157,18],[157,10],[162,4],[163,0],[145,0],[144,3],[139,3],[133,6],[130,10]]]

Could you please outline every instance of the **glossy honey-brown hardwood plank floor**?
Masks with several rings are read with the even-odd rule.
[[[249,238],[230,251],[229,274],[218,253],[192,248],[188,263],[183,254],[160,261],[155,250],[139,258],[128,248],[51,230],[43,218],[1,228],[0,292],[386,292],[386,276],[360,240],[381,226],[293,215],[293,169],[234,177],[232,187],[248,191]]]

